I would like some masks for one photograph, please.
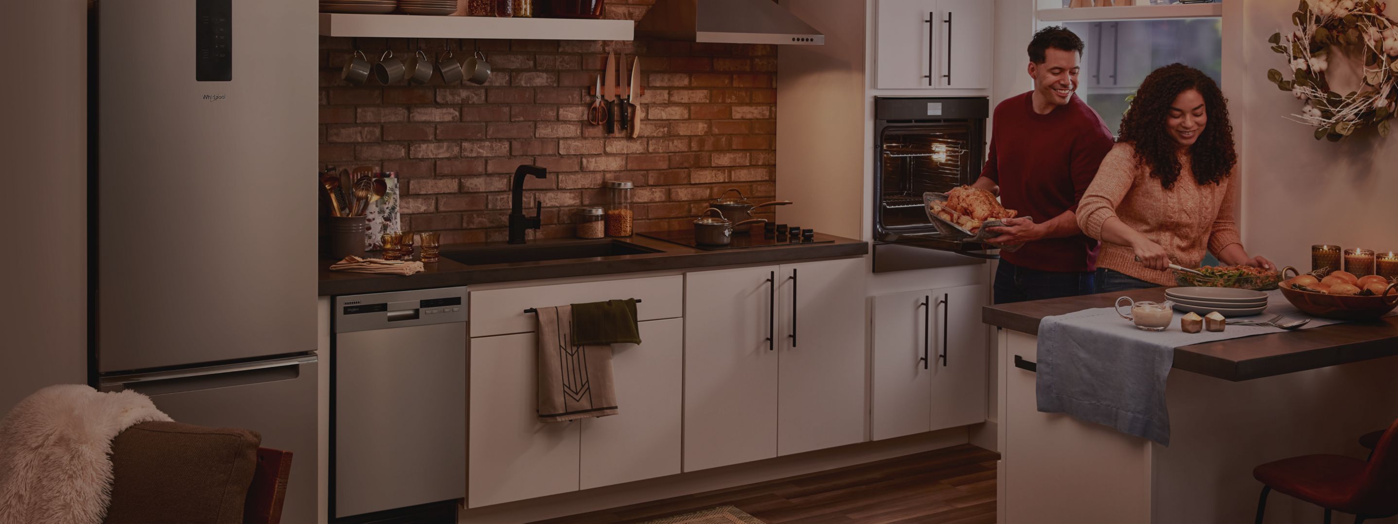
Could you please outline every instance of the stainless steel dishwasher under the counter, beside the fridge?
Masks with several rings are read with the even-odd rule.
[[[336,517],[466,496],[466,288],[336,298]]]

